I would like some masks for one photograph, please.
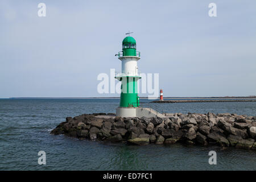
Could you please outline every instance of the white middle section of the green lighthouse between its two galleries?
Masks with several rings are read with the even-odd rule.
[[[141,57],[138,56],[122,56],[119,60],[122,61],[122,74],[125,76],[139,76],[138,73],[138,60]]]

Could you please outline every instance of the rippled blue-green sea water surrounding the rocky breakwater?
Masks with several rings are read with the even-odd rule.
[[[148,102],[148,100],[141,100]],[[51,135],[68,116],[114,113],[119,100],[0,99],[0,170],[256,170],[256,152],[219,147],[129,146]],[[150,104],[168,113],[256,115],[256,102]],[[209,165],[208,152],[217,152]],[[46,165],[38,152],[46,152]]]

